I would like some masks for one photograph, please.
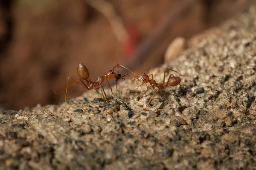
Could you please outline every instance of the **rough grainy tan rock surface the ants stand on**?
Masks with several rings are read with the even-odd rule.
[[[251,7],[151,69],[157,82],[166,67],[187,75],[183,89],[158,92],[147,110],[154,90],[139,98],[145,86],[128,81],[107,110],[91,91],[68,101],[64,112],[64,104],[2,112],[0,168],[255,169],[255,24]]]

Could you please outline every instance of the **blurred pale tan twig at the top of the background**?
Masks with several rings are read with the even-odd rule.
[[[95,8],[97,11],[101,12],[110,22],[113,29],[113,33],[116,35],[116,38],[124,43],[127,40],[128,33],[125,29],[125,26],[122,23],[122,19],[115,12],[111,3],[108,3],[105,0],[84,0],[90,6]]]

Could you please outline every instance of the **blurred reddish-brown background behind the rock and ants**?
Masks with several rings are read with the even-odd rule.
[[[2,109],[63,102],[64,94],[54,95],[53,89],[63,88],[68,76],[78,77],[76,67],[80,61],[89,69],[92,80],[112,69],[116,59],[124,66],[129,63],[135,72],[160,65],[175,37],[189,38],[218,26],[254,3],[253,0],[105,0],[113,9],[112,19],[121,19],[117,20],[117,27],[123,26],[127,35],[118,39],[122,32],[116,31],[110,24],[113,20],[101,11],[108,6],[99,1],[95,8],[90,2],[0,0]],[[172,12],[180,13],[172,15]],[[172,24],[163,29],[170,20]],[[141,44],[150,44],[150,48]],[[67,99],[82,92],[84,89],[74,85],[69,88]]]

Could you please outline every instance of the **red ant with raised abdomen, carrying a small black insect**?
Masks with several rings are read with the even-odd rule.
[[[67,86],[64,87],[64,89],[66,89],[65,97],[64,97],[65,109],[66,109],[67,88],[68,88],[69,86],[73,85],[74,83],[79,84],[81,87],[83,87],[84,89],[87,89],[87,90],[94,89],[94,90],[96,90],[96,92],[97,92],[97,89],[101,89],[102,98],[103,98],[103,100],[104,100],[105,109],[106,109],[106,101],[105,101],[104,95],[105,95],[106,99],[107,99],[107,95],[106,95],[106,93],[105,93],[104,87],[102,86],[102,83],[106,80],[106,81],[108,82],[109,88],[111,89],[111,93],[113,94],[113,91],[112,91],[112,88],[111,88],[111,86],[110,86],[110,84],[109,84],[108,79],[116,78],[116,82],[117,82],[119,79],[123,79],[123,81],[125,80],[125,78],[123,78],[125,75],[124,75],[124,76],[121,76],[121,74],[119,74],[119,73],[116,75],[116,73],[113,71],[116,67],[117,67],[117,68],[118,68],[118,67],[121,67],[121,68],[123,68],[123,69],[127,69],[127,68],[125,68],[124,66],[122,66],[122,65],[120,65],[120,64],[117,63],[117,65],[116,65],[112,70],[108,70],[107,72],[105,72],[105,74],[104,74],[103,76],[98,77],[97,80],[96,80],[96,82],[92,82],[92,81],[90,80],[90,78],[89,78],[89,77],[90,77],[90,74],[89,74],[88,69],[86,68],[86,66],[85,66],[82,62],[80,62],[79,65],[77,66],[77,74],[79,75],[79,79],[74,79],[74,78],[72,78],[72,77],[69,76],[69,77],[67,78]],[[127,69],[127,70],[131,72],[131,70],[129,70],[129,69]],[[134,73],[134,74],[135,74],[135,73]],[[135,74],[135,75],[136,75],[136,74]],[[73,82],[72,82],[71,84],[68,84],[68,83],[69,83],[69,79],[72,79],[72,80],[73,80]],[[83,80],[84,80],[86,83],[84,83]],[[79,82],[79,81],[80,81],[80,82]],[[57,95],[57,94],[60,94],[64,89],[62,89],[62,90],[59,91],[59,92],[56,92],[56,91],[54,90],[54,92],[55,92],[55,94]],[[116,86],[116,90],[117,90],[117,86]],[[118,91],[118,90],[117,90],[117,91]],[[103,93],[104,93],[104,94],[103,94]],[[99,95],[98,92],[97,92],[97,94]],[[115,94],[113,94],[113,95],[115,95]],[[65,109],[64,109],[64,110],[65,110]]]

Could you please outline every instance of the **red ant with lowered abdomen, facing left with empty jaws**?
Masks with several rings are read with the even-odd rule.
[[[150,69],[150,68],[149,68]],[[151,87],[154,89],[154,87],[156,86],[157,87],[157,91],[154,93],[154,95],[157,94],[157,92],[160,90],[160,89],[166,89],[167,86],[177,86],[177,85],[180,85],[180,81],[181,79],[179,77],[175,77],[174,75],[169,75],[169,78],[168,78],[168,81],[165,83],[165,77],[166,77],[166,70],[171,70],[171,71],[174,71],[174,72],[177,72],[173,69],[164,69],[164,74],[163,74],[163,83],[157,83],[154,78],[153,78],[153,74],[150,74],[150,75],[147,75],[145,72],[148,71],[149,69],[146,69],[143,74],[138,74],[136,75],[134,78],[133,78],[133,81],[140,81],[142,82],[142,84],[140,86],[142,86],[143,84],[146,84],[147,86],[147,83],[150,84],[150,86],[148,87],[147,86],[147,90],[140,95],[140,97],[142,97]],[[177,72],[180,76],[184,76],[184,75],[181,75],[179,72]],[[185,74],[186,75],[186,74]],[[149,79],[149,76],[151,76],[151,79]],[[139,86],[139,87],[140,87]],[[181,86],[181,85],[180,85]],[[154,95],[151,96],[150,100],[148,101],[148,104],[151,102],[152,98],[154,97]],[[144,108],[146,109],[148,107],[148,104],[147,106]]]

